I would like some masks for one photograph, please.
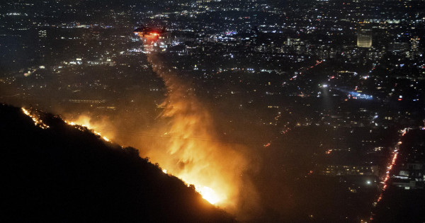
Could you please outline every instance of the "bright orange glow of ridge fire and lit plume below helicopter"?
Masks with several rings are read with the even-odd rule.
[[[152,126],[149,134],[130,140],[125,135],[123,141],[120,132],[113,135],[111,132],[114,131],[108,131],[113,127],[109,120],[94,121],[87,115],[81,115],[69,118],[72,120],[70,125],[78,123],[98,131],[95,133],[99,135],[107,133],[106,139],[130,144],[140,150],[140,156],[158,163],[164,173],[181,178],[187,185],[194,185],[205,200],[228,212],[235,214],[240,211],[237,209],[242,203],[239,199],[244,199],[243,205],[249,207],[252,215],[259,198],[252,183],[244,176],[250,163],[243,154],[246,148],[240,144],[220,142],[220,134],[215,131],[215,122],[208,109],[193,95],[186,82],[164,68],[154,52],[153,45],[157,42],[156,38],[152,38],[154,35],[138,35],[144,43],[152,69],[164,80],[167,89],[164,102],[158,106],[163,109],[158,123]],[[143,136],[150,134],[159,137]]]

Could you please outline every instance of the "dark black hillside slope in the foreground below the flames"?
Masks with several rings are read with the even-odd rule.
[[[137,150],[41,115],[47,130],[0,105],[1,222],[234,222]]]

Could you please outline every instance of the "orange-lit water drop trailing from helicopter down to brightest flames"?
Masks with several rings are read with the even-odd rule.
[[[248,164],[237,152],[237,148],[242,146],[217,142],[215,125],[208,110],[188,92],[186,83],[166,69],[154,53],[152,45],[157,44],[157,40],[142,38],[147,59],[168,90],[160,118],[169,120],[162,132],[172,137],[150,139],[150,147],[166,150],[148,149],[142,155],[164,166],[167,170],[163,170],[164,173],[171,173],[188,185],[195,185],[198,193],[211,204],[232,209],[237,204],[239,188],[244,186],[241,176]],[[146,144],[146,139],[141,139],[140,144]]]

